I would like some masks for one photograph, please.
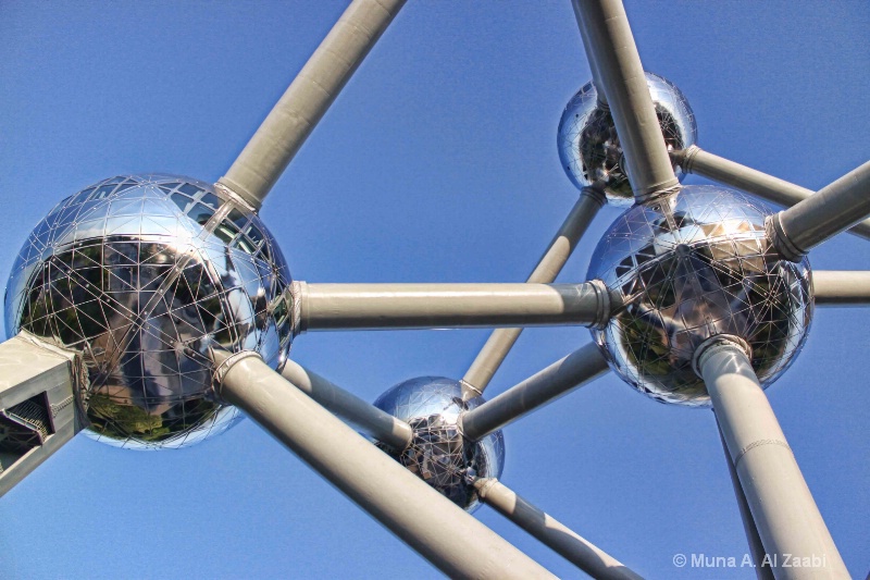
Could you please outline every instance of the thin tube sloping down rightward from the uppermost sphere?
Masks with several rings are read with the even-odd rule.
[[[671,151],[671,158],[683,171],[701,175],[762,199],[791,208],[816,194],[811,189],[780,180],[758,170],[747,168],[693,145],[682,151]],[[870,239],[870,220],[852,226],[850,234]]]

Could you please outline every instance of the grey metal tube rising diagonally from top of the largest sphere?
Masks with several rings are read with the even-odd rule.
[[[353,0],[217,184],[259,209],[402,5],[405,0]]]

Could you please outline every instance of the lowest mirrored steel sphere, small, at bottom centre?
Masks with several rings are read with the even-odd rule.
[[[468,511],[480,504],[474,479],[498,478],[505,465],[501,431],[475,443],[465,439],[457,427],[463,411],[483,402],[483,397],[463,402],[459,382],[444,377],[405,381],[374,402],[375,407],[409,423],[414,432],[411,445],[405,451],[383,448]]]

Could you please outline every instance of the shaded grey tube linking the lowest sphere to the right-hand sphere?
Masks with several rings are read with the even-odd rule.
[[[587,344],[462,415],[462,433],[473,441],[485,437],[608,370],[607,360],[598,347],[593,343]]]

